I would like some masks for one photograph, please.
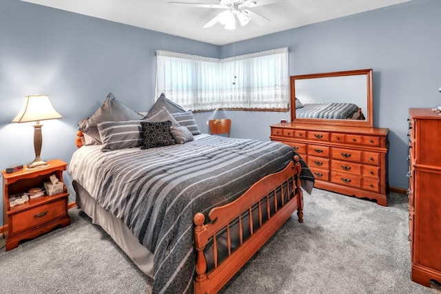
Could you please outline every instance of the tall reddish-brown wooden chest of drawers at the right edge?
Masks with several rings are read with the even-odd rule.
[[[412,280],[441,282],[441,116],[409,109],[409,240]]]

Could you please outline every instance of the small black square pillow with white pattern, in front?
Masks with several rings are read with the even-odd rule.
[[[154,123],[143,121],[141,122],[141,127],[143,128],[143,146],[141,149],[174,145],[174,140],[170,133],[170,127],[172,127],[170,120]]]

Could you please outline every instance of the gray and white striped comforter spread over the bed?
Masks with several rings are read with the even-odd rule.
[[[154,253],[154,293],[192,292],[194,213],[231,202],[294,156],[282,143],[206,134],[183,145],[100,149],[77,149],[68,171]]]

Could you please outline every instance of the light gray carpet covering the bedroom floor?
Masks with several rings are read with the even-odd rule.
[[[411,281],[407,197],[389,207],[314,189],[220,293],[438,293]],[[79,209],[72,224],[0,251],[0,293],[147,293],[150,280]],[[4,240],[0,240],[0,248]]]

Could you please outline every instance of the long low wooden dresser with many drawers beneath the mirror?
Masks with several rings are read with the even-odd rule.
[[[314,187],[387,206],[389,129],[307,123],[271,125],[271,140],[290,145],[316,177]]]

